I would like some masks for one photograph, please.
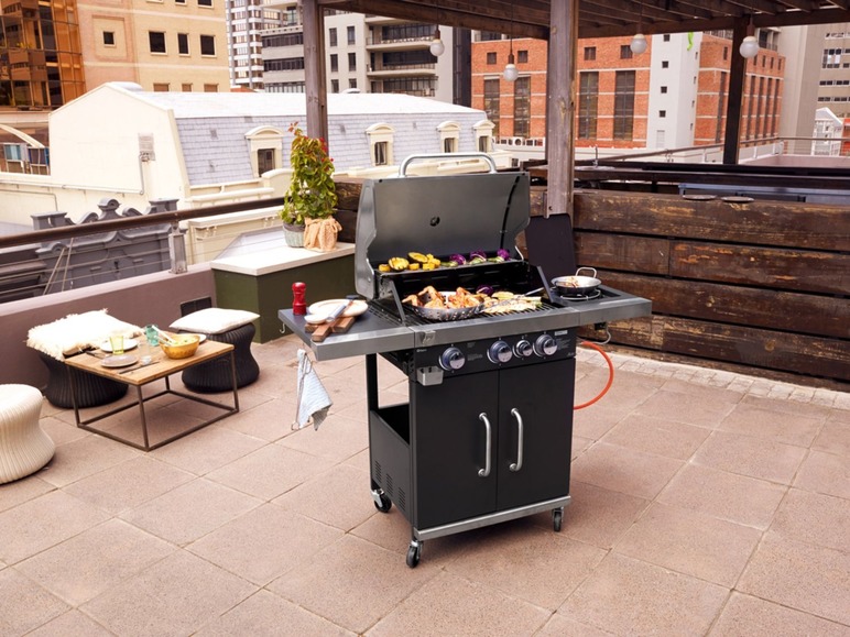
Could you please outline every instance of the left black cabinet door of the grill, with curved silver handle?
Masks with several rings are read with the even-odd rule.
[[[411,383],[414,515],[419,529],[495,510],[498,373],[446,378],[439,385]],[[487,414],[492,433],[490,475],[486,462]]]

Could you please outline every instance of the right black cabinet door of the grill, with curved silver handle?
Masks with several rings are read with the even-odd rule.
[[[499,373],[499,510],[569,495],[573,448],[573,396],[576,360],[527,365]],[[519,427],[523,458],[519,471]]]

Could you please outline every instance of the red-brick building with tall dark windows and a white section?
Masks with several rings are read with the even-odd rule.
[[[782,113],[784,58],[776,32],[761,32],[747,65],[742,138],[773,136]],[[631,37],[582,39],[577,50],[576,147],[675,149],[722,143],[731,33],[657,34],[642,54]],[[737,55],[738,53],[734,52]],[[519,75],[504,78],[513,56]],[[493,39],[472,45],[472,103],[500,140],[543,140],[546,130],[546,43]]]

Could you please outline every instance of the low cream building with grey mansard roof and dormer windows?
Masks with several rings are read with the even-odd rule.
[[[51,113],[50,175],[3,175],[0,221],[26,226],[46,210],[76,218],[103,197],[139,210],[163,199],[193,208],[282,197],[288,129],[306,127],[306,107],[304,94],[101,85]],[[483,111],[408,95],[329,95],[328,130],[338,174],[383,176],[408,155],[492,146]],[[495,155],[501,167],[510,164]]]

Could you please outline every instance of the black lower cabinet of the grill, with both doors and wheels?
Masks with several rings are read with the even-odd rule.
[[[569,502],[574,381],[574,350],[564,349],[543,364],[437,385],[410,377],[408,404],[370,406],[372,487],[411,523],[408,563],[428,538],[549,509],[560,526]]]

